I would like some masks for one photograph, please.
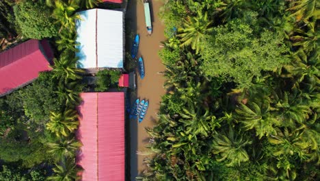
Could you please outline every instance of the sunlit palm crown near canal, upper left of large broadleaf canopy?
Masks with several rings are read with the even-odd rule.
[[[191,45],[192,49],[198,53],[201,49],[201,40],[203,40],[206,34],[213,31],[213,27],[210,27],[213,21],[208,19],[208,14],[198,11],[196,17],[187,16],[183,28],[178,29],[178,37],[181,37],[181,47]]]

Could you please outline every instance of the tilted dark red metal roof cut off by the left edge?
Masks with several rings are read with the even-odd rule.
[[[35,80],[40,71],[51,70],[41,49],[44,48],[39,40],[28,40],[0,53],[0,95]],[[50,51],[49,47],[45,49]]]

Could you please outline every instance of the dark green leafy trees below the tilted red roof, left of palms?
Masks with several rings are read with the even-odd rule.
[[[51,162],[52,158],[43,152],[48,149],[46,143],[54,138],[44,125],[50,112],[61,107],[55,88],[52,73],[40,73],[31,85],[1,99],[2,160],[22,161],[25,167]]]

